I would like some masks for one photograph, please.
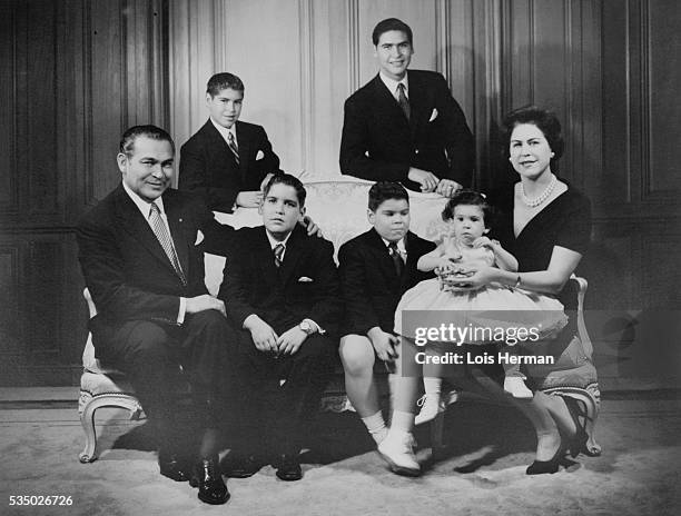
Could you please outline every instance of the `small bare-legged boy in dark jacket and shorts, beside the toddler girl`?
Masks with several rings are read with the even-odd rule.
[[[379,181],[372,186],[368,220],[373,228],[344,244],[338,251],[345,301],[339,351],[347,396],[381,445],[387,429],[378,405],[374,364],[378,357],[391,366],[397,358],[395,308],[407,289],[432,277],[421,272],[416,264],[435,244],[408,230],[408,195],[396,182]],[[399,414],[395,413],[393,420],[395,417]],[[407,446],[408,443],[404,444],[405,449]]]

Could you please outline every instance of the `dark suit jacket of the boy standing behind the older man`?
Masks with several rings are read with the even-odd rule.
[[[179,188],[204,196],[208,208],[231,212],[239,191],[260,189],[269,172],[279,171],[279,158],[261,126],[236,122],[239,163],[225,138],[208,120],[180,149]],[[261,152],[263,157],[258,157]]]

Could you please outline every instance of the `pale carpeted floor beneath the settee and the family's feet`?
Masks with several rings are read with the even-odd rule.
[[[420,429],[421,478],[386,470],[356,415],[326,414],[312,430],[302,482],[267,466],[228,482],[227,506],[158,475],[146,423],[98,413],[99,459],[83,445],[72,389],[39,401],[0,389],[1,515],[616,515],[681,514],[681,390],[605,391],[598,426],[601,457],[580,456],[555,475],[529,477],[534,437],[509,406],[463,400],[450,407],[445,457],[430,460]],[[68,506],[10,506],[17,495],[60,495]],[[37,502],[38,498],[33,498]],[[27,499],[31,502],[31,498]]]

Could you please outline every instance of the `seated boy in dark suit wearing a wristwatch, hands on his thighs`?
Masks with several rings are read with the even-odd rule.
[[[318,408],[336,355],[338,279],[333,245],[297,224],[305,211],[303,183],[274,176],[264,195],[264,226],[237,231],[218,296],[237,335],[229,339],[236,343],[230,360],[240,377],[230,391],[240,387],[259,419],[227,474],[257,472],[263,457],[256,450],[265,438],[277,456],[277,476],[298,480],[304,424]]]

